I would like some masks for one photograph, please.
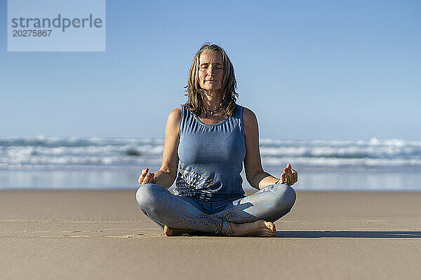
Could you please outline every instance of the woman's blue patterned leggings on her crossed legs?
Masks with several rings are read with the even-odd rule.
[[[228,223],[274,222],[288,214],[295,203],[290,186],[274,184],[247,197],[232,197],[218,202],[203,202],[173,195],[153,183],[138,188],[136,200],[142,212],[163,230],[171,228],[214,232],[225,235]]]

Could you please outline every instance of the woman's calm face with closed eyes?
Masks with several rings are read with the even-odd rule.
[[[199,85],[203,90],[216,91],[222,87],[224,64],[218,51],[204,50],[199,57]]]

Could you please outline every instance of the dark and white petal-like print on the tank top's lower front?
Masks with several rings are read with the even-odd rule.
[[[212,185],[213,179],[207,179],[209,175],[206,175],[208,172],[203,171],[203,167],[197,172],[195,171],[196,165],[194,165],[192,170],[182,167],[180,172],[178,172],[177,178],[177,188],[178,190],[201,190],[205,193],[208,192],[210,186]]]

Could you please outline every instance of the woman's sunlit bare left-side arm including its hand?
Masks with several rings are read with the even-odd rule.
[[[181,120],[181,108],[174,109],[170,112],[167,118],[166,127],[165,127],[165,138],[163,141],[163,153],[162,153],[162,164],[161,168],[155,174],[147,173],[142,171],[142,174],[145,176],[142,177],[143,183],[156,183],[164,188],[171,188],[175,178],[177,177],[178,169],[178,143],[180,142],[180,137],[178,135],[178,130],[180,127]],[[142,176],[142,175],[141,175]],[[145,181],[144,181],[145,178]],[[139,182],[140,183],[140,182]]]

